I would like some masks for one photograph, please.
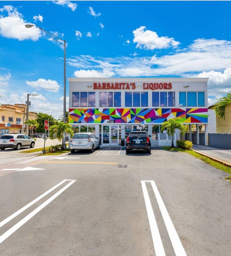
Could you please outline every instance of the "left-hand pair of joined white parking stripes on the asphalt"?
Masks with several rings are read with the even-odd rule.
[[[3,225],[5,225],[7,222],[11,221],[16,216],[18,216],[20,213],[25,211],[27,208],[29,208],[30,206],[34,205],[36,202],[38,202],[40,199],[42,199],[43,197],[48,195],[51,191],[53,191],[54,189],[56,189],[57,187],[59,187],[60,185],[62,185],[66,181],[70,181],[70,182],[66,186],[61,188],[52,197],[50,197],[47,201],[45,201],[43,204],[41,204],[39,207],[37,207],[34,211],[29,213],[25,218],[23,218],[21,221],[19,221],[17,224],[15,224],[12,228],[7,230],[3,235],[1,235],[0,236],[0,244],[5,239],[7,239],[11,234],[13,234],[17,229],[19,229],[23,224],[25,224],[27,221],[29,221],[34,215],[36,215],[39,211],[41,211],[45,206],[47,206],[51,201],[53,201],[56,197],[58,197],[64,190],[66,190],[69,186],[71,186],[76,181],[76,179],[64,179],[63,181],[61,181],[60,183],[58,183],[57,185],[55,185],[54,187],[52,187],[51,189],[46,191],[44,194],[42,194],[41,196],[39,196],[38,198],[36,198],[32,202],[30,202],[29,204],[27,204],[26,206],[24,206],[23,208],[21,208],[20,210],[18,210],[17,212],[12,214],[11,216],[9,216],[5,220],[1,221],[0,222],[0,228]]]

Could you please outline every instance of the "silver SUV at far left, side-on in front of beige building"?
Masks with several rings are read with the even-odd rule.
[[[35,140],[21,133],[4,134],[0,137],[0,149],[15,148],[19,150],[21,147],[33,148],[35,146]]]

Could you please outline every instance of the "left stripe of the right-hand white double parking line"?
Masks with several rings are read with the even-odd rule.
[[[151,229],[152,241],[156,256],[165,256],[164,247],[160,238],[160,233],[156,224],[155,216],[152,210],[151,201],[148,196],[147,187],[144,180],[141,180],[144,201],[147,209],[148,221]]]

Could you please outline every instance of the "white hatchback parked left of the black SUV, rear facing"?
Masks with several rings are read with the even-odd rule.
[[[83,149],[90,149],[93,153],[95,148],[100,148],[100,140],[91,132],[75,133],[70,140],[70,149],[72,153],[74,153],[75,150]]]

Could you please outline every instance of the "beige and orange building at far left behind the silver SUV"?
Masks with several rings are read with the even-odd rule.
[[[26,121],[26,105],[0,105],[0,134],[6,133],[25,133],[26,128],[23,127],[23,120]],[[37,119],[37,113],[29,112],[29,119]],[[34,128],[36,128],[34,126]],[[29,134],[32,131],[32,126],[29,126]]]

